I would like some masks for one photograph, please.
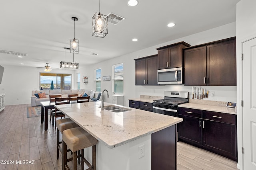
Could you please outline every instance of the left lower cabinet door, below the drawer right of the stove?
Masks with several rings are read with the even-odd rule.
[[[186,143],[202,146],[202,119],[178,115],[183,121],[178,123],[178,139]]]

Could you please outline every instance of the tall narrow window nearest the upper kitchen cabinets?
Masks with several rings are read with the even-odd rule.
[[[124,64],[113,65],[113,92],[124,93]]]

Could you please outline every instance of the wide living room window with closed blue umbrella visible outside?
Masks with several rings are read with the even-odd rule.
[[[53,82],[53,89],[70,90],[71,89],[71,74],[56,74],[56,73],[40,73],[40,87],[44,90],[50,90]]]

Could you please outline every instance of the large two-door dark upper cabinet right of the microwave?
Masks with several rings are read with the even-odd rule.
[[[236,86],[236,37],[184,49],[184,85]]]

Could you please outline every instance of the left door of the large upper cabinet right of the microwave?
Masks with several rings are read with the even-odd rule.
[[[206,47],[184,50],[184,85],[206,85]]]

